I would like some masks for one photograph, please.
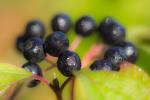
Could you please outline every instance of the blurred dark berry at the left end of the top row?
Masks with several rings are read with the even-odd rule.
[[[25,29],[27,37],[40,37],[45,35],[45,28],[40,20],[32,20],[26,25]]]

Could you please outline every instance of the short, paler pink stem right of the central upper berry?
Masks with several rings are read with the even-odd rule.
[[[81,36],[77,36],[77,37],[73,40],[73,42],[72,42],[72,44],[71,44],[69,50],[75,51],[75,49],[76,49],[76,48],[78,47],[78,45],[80,44],[81,40],[82,40],[82,37],[81,37]]]

